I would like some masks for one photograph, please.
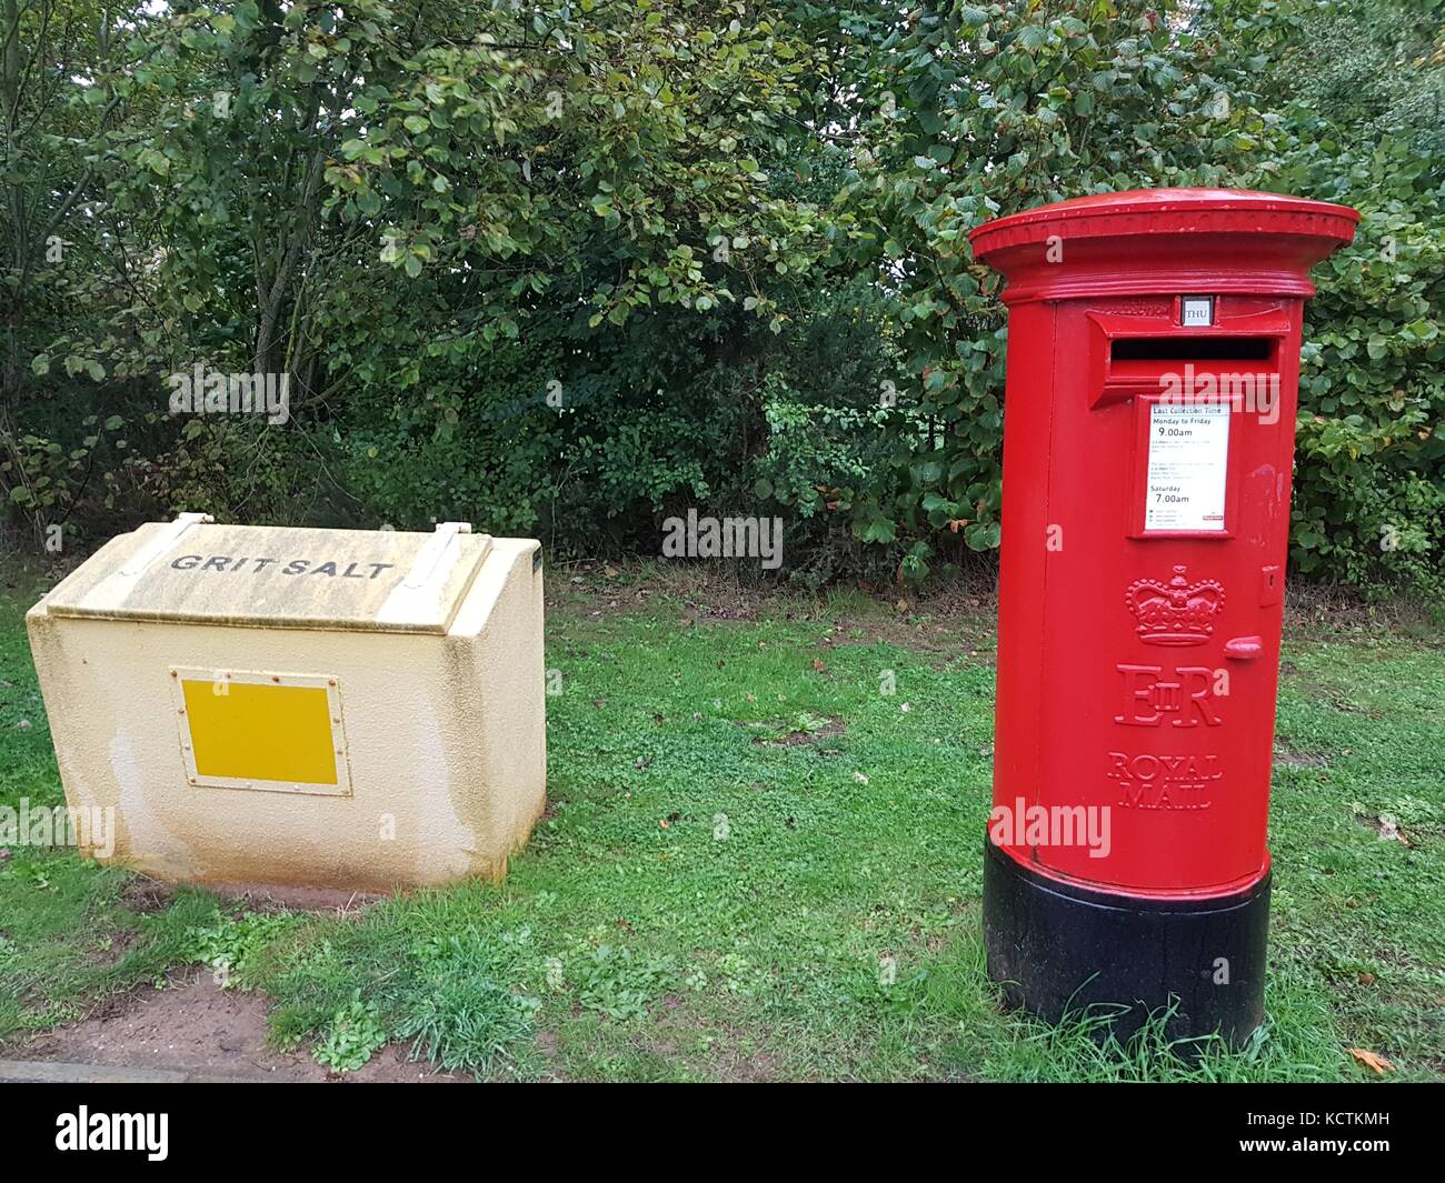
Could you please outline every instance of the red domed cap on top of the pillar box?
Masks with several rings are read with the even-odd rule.
[[[1354,240],[1348,205],[1250,189],[1133,189],[985,222],[974,259],[1004,303],[1157,292],[1312,296],[1309,269]]]

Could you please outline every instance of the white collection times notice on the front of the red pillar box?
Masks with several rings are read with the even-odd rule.
[[[1230,407],[1149,407],[1144,530],[1224,530]]]

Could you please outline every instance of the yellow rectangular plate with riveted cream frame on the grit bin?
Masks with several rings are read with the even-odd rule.
[[[171,679],[192,784],[350,796],[337,679],[179,667]]]

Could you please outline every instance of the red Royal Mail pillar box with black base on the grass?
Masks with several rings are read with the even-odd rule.
[[[984,930],[1013,1005],[1263,1018],[1300,322],[1358,218],[1157,189],[971,234],[1009,306]]]

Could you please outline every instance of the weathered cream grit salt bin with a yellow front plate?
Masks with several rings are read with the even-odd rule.
[[[532,539],[181,514],[111,539],[26,624],[66,803],[107,810],[107,862],[348,890],[500,878],[546,803]]]

